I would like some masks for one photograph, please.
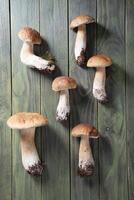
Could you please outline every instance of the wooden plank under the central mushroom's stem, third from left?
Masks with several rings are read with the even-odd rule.
[[[49,127],[43,129],[42,134],[42,155],[46,163],[42,179],[42,199],[68,200],[70,199],[68,121],[65,124],[56,122],[59,94],[51,89],[54,77],[68,74],[66,0],[40,0],[40,30],[59,68],[54,75],[41,77],[41,112],[49,119]]]

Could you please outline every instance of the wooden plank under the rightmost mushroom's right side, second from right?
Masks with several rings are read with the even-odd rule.
[[[99,104],[100,199],[127,200],[125,122],[125,1],[97,1],[97,51],[113,59],[107,69],[109,103]]]

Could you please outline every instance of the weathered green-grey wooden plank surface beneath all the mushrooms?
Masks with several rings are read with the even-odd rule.
[[[0,200],[133,200],[133,0],[0,0]],[[98,105],[92,97],[93,69],[74,61],[76,33],[69,29],[73,17],[88,14],[87,56],[106,53],[113,59],[107,69],[110,102]],[[45,41],[37,54],[50,49],[58,70],[43,75],[21,63],[23,26],[39,30]],[[11,37],[11,38],[10,38]],[[10,46],[11,45],[11,46]],[[58,75],[70,75],[78,89],[70,92],[71,116],[64,124],[55,120],[59,95],[51,90]],[[49,126],[38,129],[36,144],[46,168],[42,177],[23,169],[18,131],[6,120],[18,111],[41,112]],[[102,135],[91,141],[96,163],[93,177],[77,176],[79,139],[70,130],[90,122]]]

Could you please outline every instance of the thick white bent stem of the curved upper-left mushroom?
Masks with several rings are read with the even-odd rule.
[[[45,60],[39,56],[33,54],[33,44],[24,42],[20,58],[22,63],[26,65],[32,65],[38,70],[46,70],[46,71],[53,71],[55,69],[55,65],[48,60]]]

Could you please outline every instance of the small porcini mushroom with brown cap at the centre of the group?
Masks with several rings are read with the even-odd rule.
[[[52,83],[52,89],[56,92],[60,92],[59,103],[57,106],[56,119],[67,120],[70,113],[69,103],[69,89],[75,89],[77,87],[76,81],[68,76],[60,76],[54,79]]]

